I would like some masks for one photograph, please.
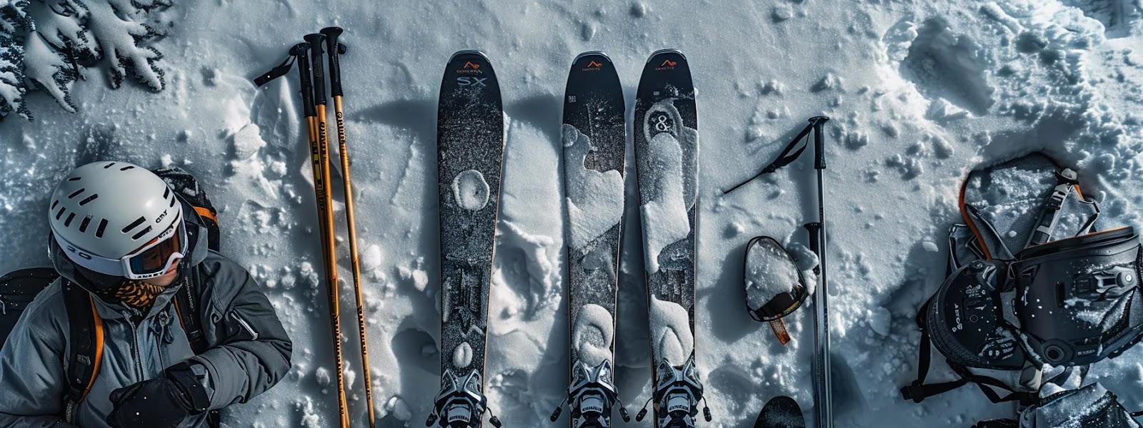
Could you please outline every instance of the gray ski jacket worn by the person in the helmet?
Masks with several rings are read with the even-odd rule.
[[[198,312],[209,349],[200,355],[191,350],[175,313],[175,286],[160,294],[138,323],[133,321],[135,309],[94,299],[104,324],[103,360],[77,409],[77,426],[107,427],[112,390],[160,377],[183,361],[206,386],[211,410],[246,403],[289,371],[293,345],[270,300],[245,268],[207,249],[206,228],[192,219],[187,216],[190,264],[183,269],[197,269],[201,278]],[[48,241],[56,270],[90,290],[55,240]],[[0,428],[73,427],[64,421],[69,334],[57,280],[27,306],[0,349]],[[206,415],[187,418],[182,427],[207,427]]]

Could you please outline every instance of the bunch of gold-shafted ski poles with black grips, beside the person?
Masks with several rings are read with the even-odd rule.
[[[321,231],[321,255],[326,283],[329,292],[329,315],[333,325],[334,358],[337,366],[337,410],[342,428],[349,428],[350,419],[345,403],[344,358],[342,357],[341,305],[337,284],[336,229],[330,196],[329,123],[326,110],[326,75],[322,57],[329,53],[329,92],[334,98],[334,116],[337,126],[337,143],[342,163],[342,185],[345,191],[345,219],[349,224],[350,265],[353,269],[353,289],[357,293],[358,338],[361,341],[361,373],[365,381],[365,399],[368,406],[369,426],[375,426],[373,405],[373,382],[369,375],[369,347],[366,339],[365,301],[361,297],[361,268],[357,247],[357,223],[353,217],[353,186],[350,178],[350,155],[345,144],[345,118],[342,111],[342,71],[339,55],[345,54],[345,45],[338,43],[342,29],[330,26],[319,33],[306,34],[304,42],[295,45],[289,57],[274,70],[255,79],[258,86],[285,75],[297,62],[302,89],[302,108],[309,127],[310,160],[313,163],[313,191],[318,204],[319,229]],[[323,48],[326,50],[323,50]],[[309,56],[307,56],[309,54]]]

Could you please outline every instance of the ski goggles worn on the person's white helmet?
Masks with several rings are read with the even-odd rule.
[[[59,234],[56,242],[67,251],[77,265],[104,275],[123,276],[128,280],[146,280],[162,276],[170,267],[186,257],[186,229],[182,220],[163,231],[143,247],[118,259],[109,259],[79,249]]]

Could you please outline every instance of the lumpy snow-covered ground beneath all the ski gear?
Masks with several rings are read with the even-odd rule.
[[[173,23],[153,43],[165,55],[165,90],[111,90],[91,68],[72,89],[77,113],[41,91],[29,97],[34,122],[0,122],[0,270],[47,263],[47,196],[77,164],[122,159],[198,175],[222,207],[223,252],[262,281],[295,344],[290,375],[230,410],[237,427],[337,420],[296,74],[264,89],[250,83],[327,25],[345,27],[350,46],[346,132],[383,427],[421,426],[438,390],[434,120],[445,62],[459,49],[494,62],[507,120],[488,395],[509,427],[547,426],[567,383],[560,99],[583,50],[612,57],[629,106],[652,51],[674,47],[690,60],[702,147],[696,349],[714,415],[708,426],[749,427],[780,394],[812,414],[813,308],[788,318],[793,341],[777,345],[744,309],[742,260],[749,239],[765,234],[809,267],[801,224],[816,215],[813,169],[801,160],[721,193],[812,115],[832,118],[825,179],[839,427],[967,427],[1014,415],[974,387],[922,404],[897,393],[916,375],[912,318],[942,280],[942,236],[973,167],[1046,150],[1078,167],[1104,226],[1143,227],[1137,0],[219,0],[159,14]],[[628,164],[616,362],[621,397],[636,412],[649,396],[650,361]],[[350,406],[362,423],[352,294],[343,296]],[[1143,409],[1143,348],[1093,374],[1130,410]],[[936,362],[929,379],[952,378]]]

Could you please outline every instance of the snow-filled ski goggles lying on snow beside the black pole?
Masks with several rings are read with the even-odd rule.
[[[781,243],[769,236],[754,236],[746,244],[746,309],[750,317],[768,322],[782,345],[790,333],[782,318],[806,301],[806,280],[801,269]]]

